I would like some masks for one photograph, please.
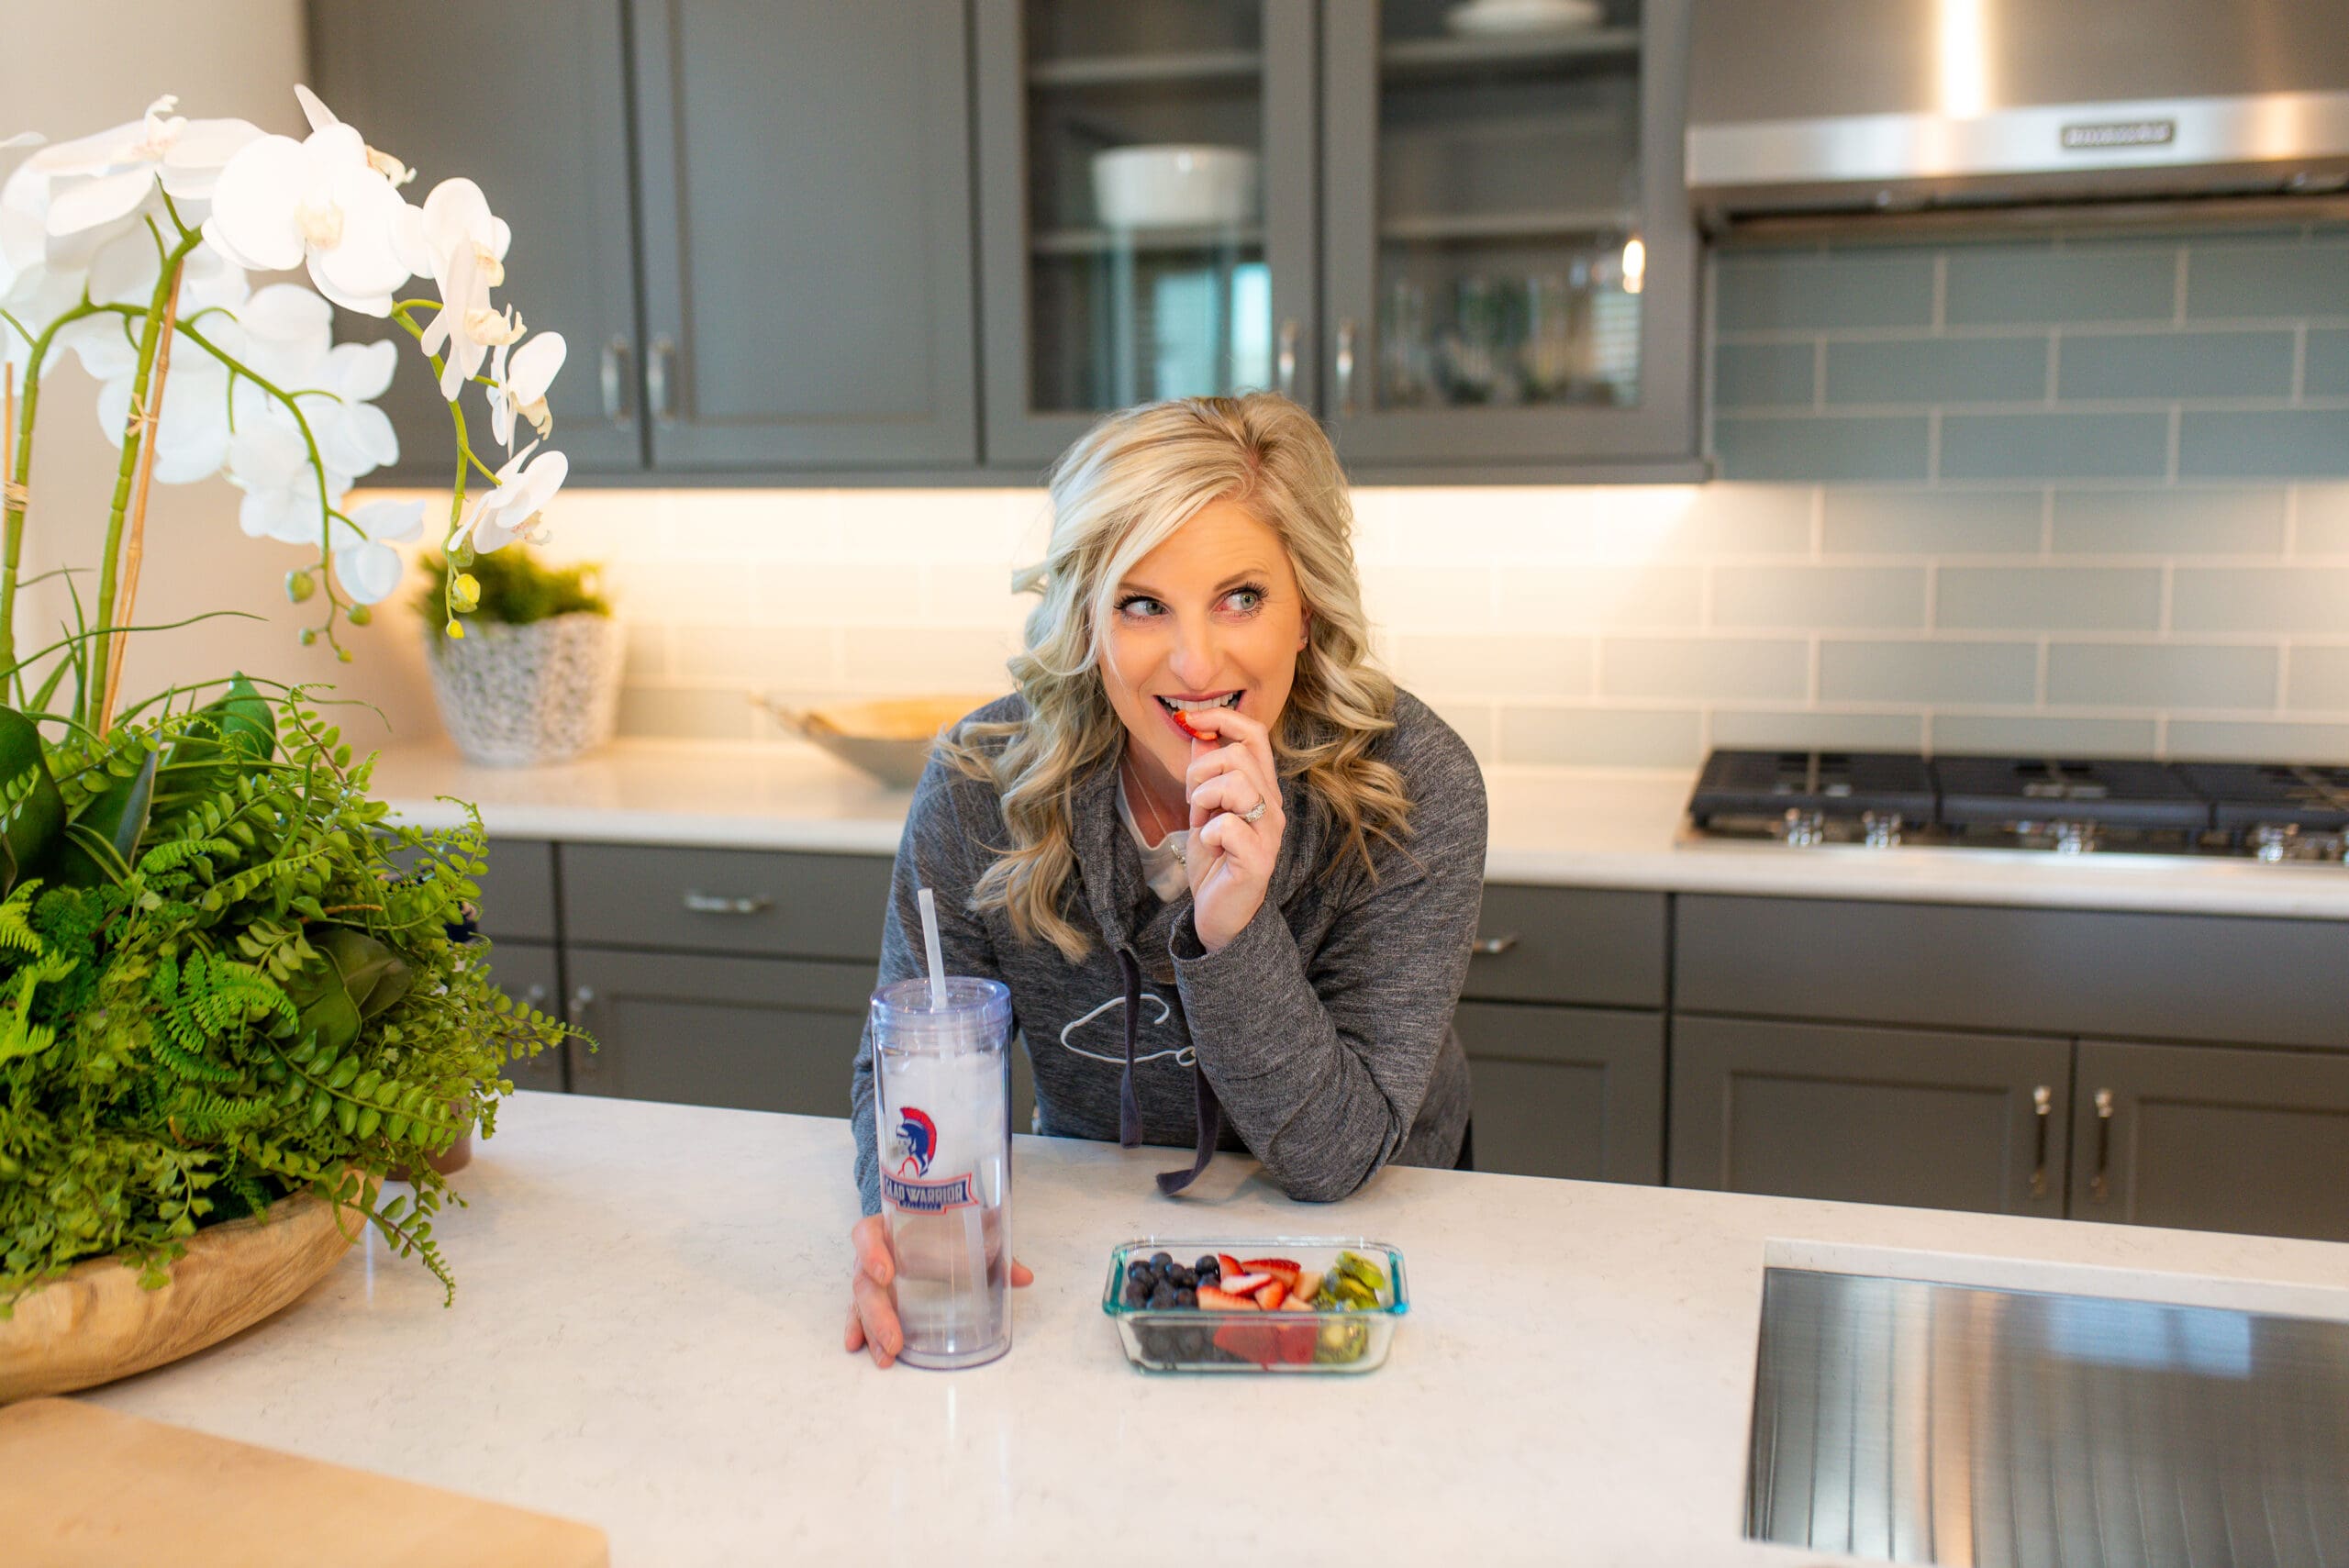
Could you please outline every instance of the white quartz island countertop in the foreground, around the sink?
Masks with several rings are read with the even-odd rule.
[[[99,1404],[592,1521],[613,1563],[1820,1563],[1741,1540],[1766,1263],[2349,1317],[2349,1246],[1019,1138],[1012,1352],[841,1350],[848,1124],[517,1096],[437,1235]],[[1144,1235],[1367,1235],[1412,1312],[1360,1378],[1149,1378],[1099,1310]],[[355,1521],[364,1528],[364,1521]],[[1351,1547],[1348,1547],[1351,1542]]]

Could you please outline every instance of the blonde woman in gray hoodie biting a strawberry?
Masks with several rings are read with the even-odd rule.
[[[940,744],[897,845],[881,981],[1010,986],[1038,1131],[1245,1148],[1297,1199],[1461,1162],[1452,1009],[1485,876],[1468,746],[1369,667],[1337,453],[1273,394],[1102,420],[1052,477],[1019,690]],[[900,1347],[871,1035],[848,1350]],[[1029,1272],[1012,1265],[1012,1284]]]

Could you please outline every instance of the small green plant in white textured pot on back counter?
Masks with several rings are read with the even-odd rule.
[[[449,559],[425,561],[425,655],[442,728],[474,763],[561,763],[611,739],[620,711],[620,624],[592,566],[540,566],[500,549],[458,573],[472,608],[449,636]]]

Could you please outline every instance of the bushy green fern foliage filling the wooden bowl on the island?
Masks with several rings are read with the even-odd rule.
[[[160,1286],[202,1225],[301,1190],[453,1298],[428,1160],[573,1033],[467,937],[479,819],[388,824],[298,688],[176,697],[56,742],[0,709],[0,1314],[92,1256]]]

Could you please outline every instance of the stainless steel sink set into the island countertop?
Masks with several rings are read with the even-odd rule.
[[[2349,1568],[2349,1322],[1773,1268],[1745,1535]]]

